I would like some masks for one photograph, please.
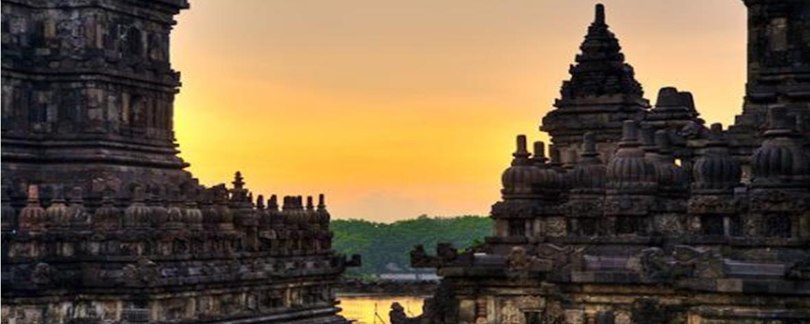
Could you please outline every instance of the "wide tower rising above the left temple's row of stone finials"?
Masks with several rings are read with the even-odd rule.
[[[2,3],[3,185],[190,181],[177,156],[180,74],[169,34],[185,0]]]

